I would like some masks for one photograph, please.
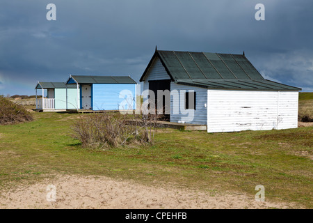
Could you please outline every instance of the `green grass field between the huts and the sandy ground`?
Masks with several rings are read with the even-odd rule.
[[[163,129],[154,146],[92,151],[71,137],[78,116],[35,113],[33,122],[0,125],[0,189],[56,174],[109,176],[252,197],[261,184],[268,200],[313,208],[313,127],[214,134]]]

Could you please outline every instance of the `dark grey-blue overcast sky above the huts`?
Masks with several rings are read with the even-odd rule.
[[[48,3],[56,21],[48,21]],[[255,20],[255,5],[265,20]],[[130,75],[162,50],[242,54],[266,79],[313,91],[313,1],[0,0],[0,95],[37,81]]]

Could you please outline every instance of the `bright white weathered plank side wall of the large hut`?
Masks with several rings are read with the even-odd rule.
[[[297,128],[298,91],[207,90],[207,131]]]

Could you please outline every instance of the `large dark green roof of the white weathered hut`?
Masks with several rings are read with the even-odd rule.
[[[207,52],[156,50],[140,82],[156,57],[160,59],[170,79],[177,84],[208,89],[301,90],[264,79],[244,55]]]

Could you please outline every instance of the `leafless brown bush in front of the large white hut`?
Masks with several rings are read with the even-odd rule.
[[[157,115],[93,113],[74,123],[73,137],[84,148],[110,148],[125,144],[153,144]]]

